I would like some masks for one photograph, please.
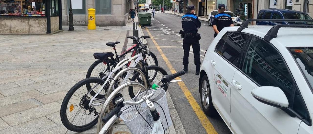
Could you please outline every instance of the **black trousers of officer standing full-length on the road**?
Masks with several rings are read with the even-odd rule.
[[[190,51],[190,45],[192,46],[193,50],[193,56],[195,60],[195,65],[200,65],[200,44],[199,40],[194,38],[184,38],[182,42],[182,48],[184,49],[184,59],[182,60],[183,65],[187,65],[188,57],[189,57],[189,51]]]

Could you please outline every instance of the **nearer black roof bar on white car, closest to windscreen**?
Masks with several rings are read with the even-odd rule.
[[[274,25],[271,29],[269,29],[269,31],[267,32],[267,34],[264,36],[263,39],[266,41],[270,41],[271,39],[276,38],[279,28],[313,28],[313,25],[281,25],[281,24],[277,24],[277,25]]]

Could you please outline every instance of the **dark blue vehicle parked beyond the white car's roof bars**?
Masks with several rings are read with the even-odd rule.
[[[308,14],[296,10],[289,9],[262,9],[260,10],[258,17],[259,19],[312,19]],[[256,22],[256,25],[276,25],[276,24],[313,24],[312,22],[268,22],[262,21]]]

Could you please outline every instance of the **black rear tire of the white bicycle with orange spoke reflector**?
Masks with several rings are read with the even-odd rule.
[[[84,80],[81,80],[80,82],[76,83],[69,91],[68,93],[65,95],[64,99],[63,99],[63,102],[61,104],[61,109],[60,109],[60,117],[61,117],[61,121],[62,121],[62,124],[67,128],[69,129],[70,131],[85,131],[85,130],[88,130],[90,129],[91,127],[95,126],[95,124],[97,124],[97,121],[98,121],[98,115],[97,117],[95,117],[94,120],[92,120],[91,122],[89,122],[88,124],[85,124],[85,125],[82,125],[82,126],[77,126],[77,125],[74,125],[72,124],[69,119],[68,119],[68,116],[66,113],[67,112],[67,107],[68,107],[68,104],[69,104],[69,100],[71,99],[72,95],[76,92],[76,90],[80,89],[80,87],[84,86],[85,84],[87,83],[97,83],[97,84],[100,84],[100,85],[103,85],[103,83],[105,82],[104,80],[100,79],[100,78],[96,78],[96,77],[90,77],[90,78],[86,78]],[[86,91],[87,93],[87,91]],[[77,96],[76,96],[77,97]],[[74,99],[75,100],[75,99]],[[77,100],[77,99],[76,99]],[[81,101],[81,100],[80,100]],[[71,102],[73,103],[73,102]],[[78,106],[79,108],[81,108],[80,106]],[[74,109],[74,107],[73,107]],[[81,108],[83,110],[83,108]],[[78,110],[78,112],[80,112]],[[85,111],[86,112],[86,111]],[[77,113],[76,113],[77,114]],[[73,114],[72,114],[73,115]],[[75,115],[76,116],[76,115]],[[73,121],[75,119],[75,116],[73,118]],[[84,116],[85,118],[85,116]]]

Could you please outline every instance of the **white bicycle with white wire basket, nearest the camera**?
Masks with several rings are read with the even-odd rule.
[[[169,115],[169,110],[168,110],[167,101],[165,97],[165,91],[158,87],[168,86],[172,82],[181,81],[181,80],[173,80],[173,79],[179,76],[182,76],[184,74],[185,72],[181,71],[173,75],[165,75],[160,81],[157,82],[157,84],[153,84],[153,86],[151,87],[152,91],[145,90],[141,92],[141,94],[139,94],[135,98],[132,98],[130,101],[125,101],[125,102],[124,102],[123,96],[121,94],[118,94],[119,90],[128,86],[134,86],[134,85],[139,86],[140,88],[143,88],[143,89],[145,89],[146,87],[143,86],[141,83],[133,82],[133,81],[127,82],[119,86],[117,89],[115,89],[115,91],[112,92],[112,94],[110,94],[110,96],[105,102],[107,104],[109,103],[109,101],[112,100],[115,107],[112,111],[106,114],[102,119],[98,119],[97,132],[99,132],[99,134],[106,133],[110,129],[110,127],[115,123],[115,121],[117,121],[117,119],[121,117],[121,119],[124,121],[126,126],[134,134],[167,133],[167,128],[172,125],[172,120]],[[160,83],[163,83],[163,84],[159,85]],[[149,94],[147,95],[148,92]],[[141,98],[141,100],[137,100],[137,98]],[[146,103],[141,104],[144,101]],[[141,104],[141,106],[139,106],[139,104]],[[106,109],[104,108],[105,106],[106,105],[104,105],[102,109]],[[148,109],[144,107],[147,107]],[[158,113],[156,110],[157,109],[156,107],[161,108],[163,113],[162,112]],[[102,126],[101,121],[105,123],[105,125],[102,128],[100,127],[100,125]],[[167,126],[164,126],[165,124]]]

